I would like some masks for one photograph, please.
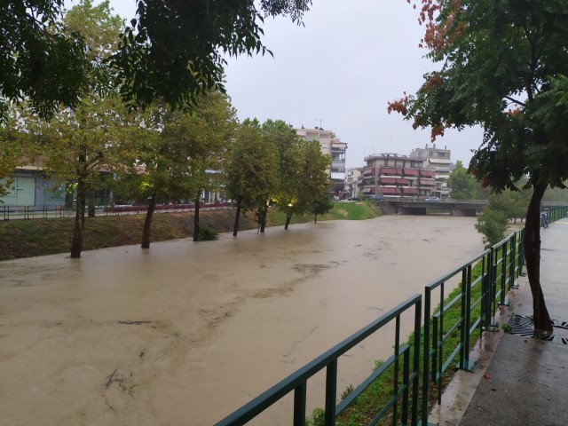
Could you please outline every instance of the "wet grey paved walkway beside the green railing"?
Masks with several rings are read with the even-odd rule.
[[[540,280],[555,323],[550,342],[528,333],[484,333],[472,359],[479,367],[459,371],[435,406],[430,422],[440,426],[566,425],[568,404],[568,219],[541,231]],[[528,280],[509,292],[510,306],[502,306],[495,322],[504,324],[533,314]],[[517,317],[519,316],[519,317]],[[513,322],[513,321],[511,321]],[[527,330],[528,331],[528,330]]]

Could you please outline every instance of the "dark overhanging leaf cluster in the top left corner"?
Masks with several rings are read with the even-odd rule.
[[[63,0],[0,2],[0,122],[12,102],[28,99],[42,117],[75,106],[87,82],[82,37],[63,25]]]

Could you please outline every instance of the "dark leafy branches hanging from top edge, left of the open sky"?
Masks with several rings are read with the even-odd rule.
[[[225,53],[270,52],[261,41],[264,17],[288,15],[301,22],[311,3],[138,0],[137,16],[113,58],[122,98],[131,106],[158,98],[178,107],[193,105],[203,91],[223,91]]]

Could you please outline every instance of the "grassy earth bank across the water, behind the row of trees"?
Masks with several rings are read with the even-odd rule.
[[[201,210],[200,224],[217,233],[233,231],[234,210]],[[377,209],[366,202],[336,202],[319,220],[360,220],[377,217]],[[145,215],[89,217],[83,235],[83,250],[139,244]],[[271,209],[268,226],[284,225],[286,217]],[[292,225],[313,217],[293,217]],[[10,220],[0,223],[0,260],[66,253],[73,239],[73,218]],[[240,230],[256,229],[253,214],[241,215]],[[270,231],[268,230],[267,233]],[[152,241],[193,236],[193,213],[159,213],[152,221]]]

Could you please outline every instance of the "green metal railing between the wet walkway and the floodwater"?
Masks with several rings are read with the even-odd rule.
[[[567,213],[568,207],[561,207],[550,209],[548,216],[550,222],[554,222],[566,217]],[[383,375],[389,375],[386,381],[390,383],[389,397],[381,405],[377,404],[375,414],[367,424],[377,424],[384,418],[389,418],[390,424],[428,424],[431,393],[438,389],[439,401],[444,374],[456,367],[472,371],[476,366],[469,360],[471,343],[483,331],[497,327],[493,324],[497,306],[508,303],[506,294],[514,288],[515,280],[523,271],[523,233],[523,230],[511,233],[469,262],[433,281],[424,289],[423,298],[419,294],[410,297],[217,422],[217,426],[245,424],[290,392],[294,392],[293,424],[304,426],[308,380],[324,369],[325,426],[334,425],[338,416]],[[402,343],[401,321],[407,317],[407,312],[414,312],[413,334],[407,343]],[[372,375],[337,404],[340,357],[392,323],[395,333],[390,358],[380,363]]]

